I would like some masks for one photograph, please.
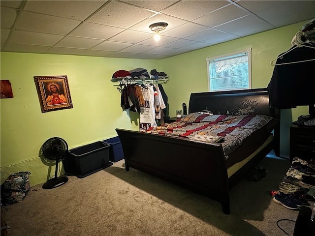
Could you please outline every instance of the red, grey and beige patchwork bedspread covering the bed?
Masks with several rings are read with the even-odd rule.
[[[272,119],[265,115],[230,116],[197,112],[142,132],[188,138],[203,143],[220,143],[227,159],[229,153],[239,148],[246,137]]]

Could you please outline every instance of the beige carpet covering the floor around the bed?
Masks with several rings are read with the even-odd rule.
[[[55,189],[32,187],[3,216],[9,236],[284,236],[280,219],[298,211],[272,201],[290,163],[266,157],[267,177],[242,180],[231,191],[231,214],[221,204],[130,168],[124,160]],[[215,179],[209,179],[215,181]],[[293,234],[294,223],[279,225]]]

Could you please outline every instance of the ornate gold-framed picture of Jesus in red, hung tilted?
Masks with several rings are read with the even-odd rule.
[[[66,75],[33,78],[42,113],[73,108]]]

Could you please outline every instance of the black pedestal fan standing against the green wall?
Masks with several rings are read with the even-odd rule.
[[[64,176],[57,177],[58,163],[63,159],[63,156],[68,150],[67,143],[62,138],[50,138],[43,144],[42,150],[46,158],[56,161],[55,177],[44,183],[43,188],[52,189],[63,185],[68,181],[68,178]]]

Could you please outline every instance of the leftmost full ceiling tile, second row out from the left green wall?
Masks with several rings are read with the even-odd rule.
[[[36,33],[15,30],[12,32],[10,42],[20,44],[33,44],[42,46],[54,46],[61,39],[63,35],[48,34],[48,33]]]

